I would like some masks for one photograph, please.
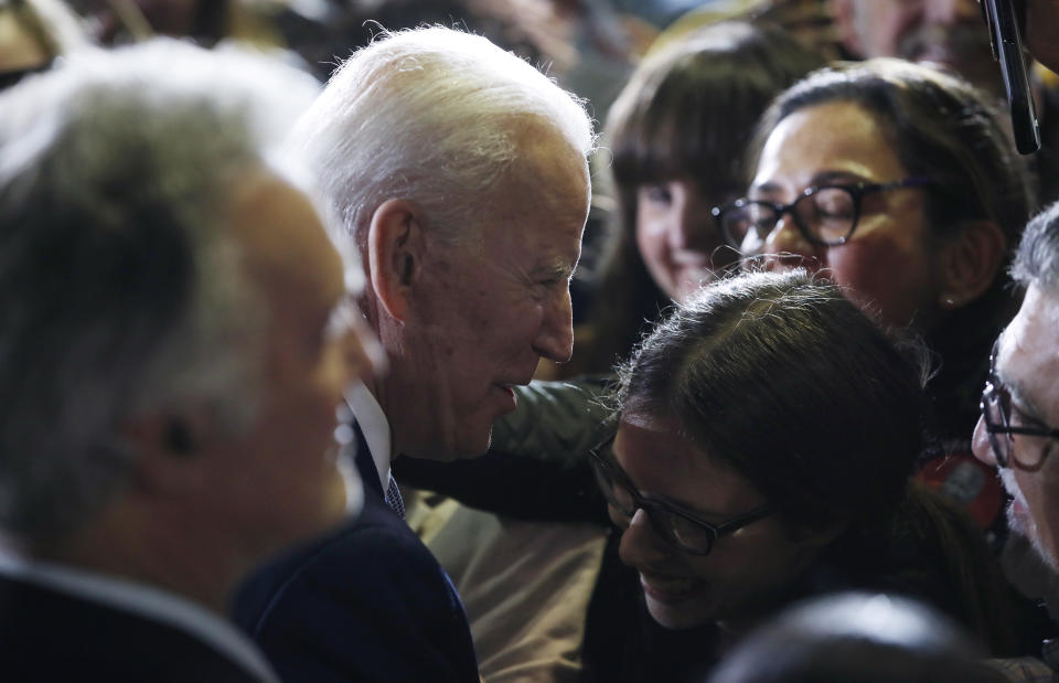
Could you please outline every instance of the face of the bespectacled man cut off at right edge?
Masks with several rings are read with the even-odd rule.
[[[1012,426],[1059,426],[1059,296],[1033,286],[1023,307],[1001,338],[995,372],[1012,394]],[[974,455],[996,465],[983,420],[972,442]],[[1059,440],[1013,435],[1012,453],[1024,462],[1044,461],[1034,471],[1012,463],[1001,469],[1014,499],[1008,520],[1041,557],[1059,570]]]

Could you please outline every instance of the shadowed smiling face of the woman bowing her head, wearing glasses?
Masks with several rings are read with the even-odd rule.
[[[640,493],[674,503],[712,524],[745,514],[767,501],[747,479],[677,436],[670,420],[625,416],[613,455]],[[642,510],[624,529],[622,561],[640,573],[648,610],[670,629],[721,622],[741,630],[770,612],[815,559],[814,546],[791,537],[768,516],[714,544],[708,555],[684,553],[655,533]]]

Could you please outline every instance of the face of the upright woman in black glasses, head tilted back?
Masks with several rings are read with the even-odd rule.
[[[889,183],[908,178],[888,131],[858,105],[811,106],[784,118],[769,135],[749,196],[789,203],[812,185]],[[902,188],[867,194],[849,242],[810,244],[790,214],[758,253],[773,269],[804,267],[848,287],[858,306],[891,324],[930,328],[940,298],[939,268],[929,247],[927,190]]]

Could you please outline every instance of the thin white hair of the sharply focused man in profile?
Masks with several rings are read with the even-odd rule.
[[[542,125],[592,150],[577,97],[484,38],[432,26],[384,32],[354,53],[295,140],[349,234],[363,239],[375,210],[403,198],[458,242],[481,223],[481,198],[518,157],[520,136]]]

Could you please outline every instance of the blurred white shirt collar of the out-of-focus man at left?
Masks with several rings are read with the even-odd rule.
[[[38,562],[2,547],[0,574],[167,623],[207,643],[257,679],[279,683],[265,655],[246,636],[175,594],[115,576]]]

